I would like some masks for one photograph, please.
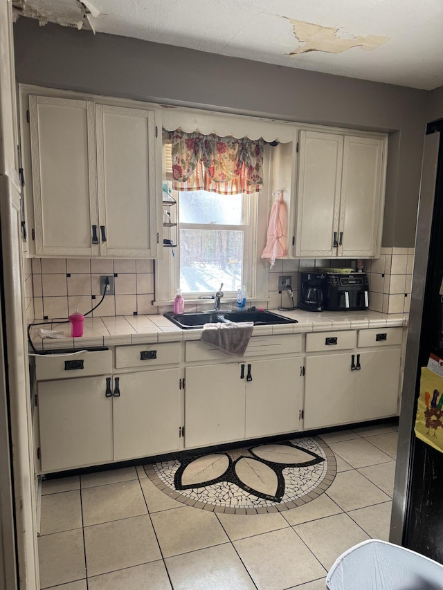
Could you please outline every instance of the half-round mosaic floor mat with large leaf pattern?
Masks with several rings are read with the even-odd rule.
[[[334,481],[336,459],[316,436],[199,454],[146,465],[155,486],[177,501],[227,514],[296,508]]]

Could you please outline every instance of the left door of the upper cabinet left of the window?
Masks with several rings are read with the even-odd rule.
[[[93,103],[30,96],[29,111],[35,253],[98,255]]]

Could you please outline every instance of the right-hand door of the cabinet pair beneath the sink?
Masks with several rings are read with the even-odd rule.
[[[254,361],[251,377],[246,382],[246,439],[298,430],[300,357]]]

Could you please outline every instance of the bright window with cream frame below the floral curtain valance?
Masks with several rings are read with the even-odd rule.
[[[164,248],[163,260],[156,261],[156,302],[170,302],[177,288],[198,302],[213,297],[221,283],[224,299],[235,299],[240,285],[246,285],[248,299],[266,297],[266,261],[260,255],[266,243],[269,160],[266,147],[260,194],[179,192],[172,190],[170,144],[164,142],[163,177],[177,201],[178,246]]]

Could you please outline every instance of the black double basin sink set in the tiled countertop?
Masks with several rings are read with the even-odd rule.
[[[297,320],[283,317],[272,311],[224,311],[210,310],[198,313],[163,313],[173,324],[183,330],[202,328],[204,324],[217,324],[218,322],[254,322],[254,326],[272,326],[274,324],[296,324]]]

